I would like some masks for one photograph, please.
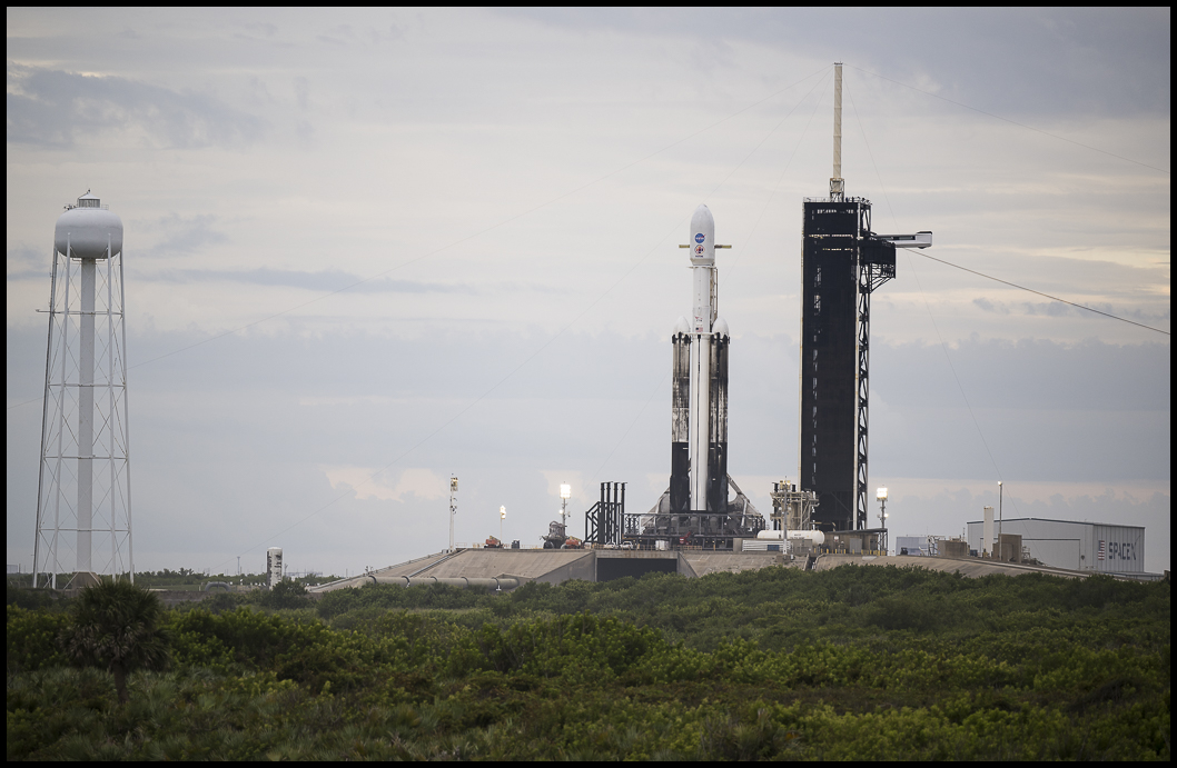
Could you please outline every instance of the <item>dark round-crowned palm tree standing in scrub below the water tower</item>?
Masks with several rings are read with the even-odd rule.
[[[61,646],[71,661],[114,675],[119,703],[127,702],[127,675],[167,665],[169,636],[159,627],[164,606],[152,593],[127,581],[104,580],[74,603]]]

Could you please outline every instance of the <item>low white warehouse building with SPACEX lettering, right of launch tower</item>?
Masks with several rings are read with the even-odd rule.
[[[1109,574],[1144,573],[1144,528],[1073,520],[1017,517],[1004,520],[1000,533],[1022,536],[1022,548],[1052,568]],[[993,525],[996,537],[997,525]],[[984,522],[969,523],[969,549],[992,552],[985,543]]]

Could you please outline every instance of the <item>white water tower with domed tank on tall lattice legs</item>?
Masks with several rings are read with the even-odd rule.
[[[33,586],[129,573],[122,220],[86,192],[53,236]]]

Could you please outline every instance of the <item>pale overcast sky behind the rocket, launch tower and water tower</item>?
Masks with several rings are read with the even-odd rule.
[[[126,229],[137,569],[354,573],[540,543],[570,482],[670,473],[705,202],[730,470],[797,476],[802,199],[1170,329],[1170,12],[7,11],[7,547],[32,565],[54,222]],[[892,535],[1146,527],[1169,568],[1170,338],[900,254],[873,296]],[[205,342],[205,343],[199,343]],[[199,346],[193,346],[198,345]],[[169,354],[175,353],[175,354]],[[162,356],[167,355],[167,356]],[[873,494],[872,494],[873,495]],[[875,516],[872,514],[872,523]]]

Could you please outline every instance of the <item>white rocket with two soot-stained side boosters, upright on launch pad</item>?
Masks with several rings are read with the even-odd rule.
[[[691,216],[693,313],[671,336],[670,512],[727,509],[727,323],[718,316],[716,220],[705,205]]]

